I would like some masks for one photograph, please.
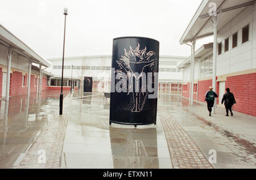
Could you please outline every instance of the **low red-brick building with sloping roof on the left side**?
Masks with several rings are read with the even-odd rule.
[[[47,89],[50,64],[0,25],[0,98]],[[30,83],[28,82],[30,81]]]

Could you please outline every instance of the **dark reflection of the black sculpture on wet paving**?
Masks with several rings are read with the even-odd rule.
[[[147,136],[143,137],[142,134]],[[120,130],[111,127],[109,136],[114,168],[159,168],[156,128],[131,131],[130,128]]]

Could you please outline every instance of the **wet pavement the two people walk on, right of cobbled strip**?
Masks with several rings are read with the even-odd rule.
[[[180,96],[163,96],[159,104],[172,113],[207,158],[210,149],[217,151],[215,168],[256,168],[255,117],[237,112],[224,117],[222,108],[209,117],[205,105],[189,106]]]

